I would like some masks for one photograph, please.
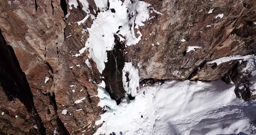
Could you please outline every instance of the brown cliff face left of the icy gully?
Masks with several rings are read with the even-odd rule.
[[[13,53],[3,56],[16,57],[19,62],[18,66],[10,65],[6,68],[13,69],[13,72],[20,68],[21,72],[26,74],[25,81],[13,80],[12,83],[18,89],[23,89],[16,83],[24,85],[23,83],[27,81],[30,86],[28,93],[31,94],[31,98],[28,98],[29,95],[24,91],[17,92],[16,95],[10,94],[9,99],[12,100],[5,99],[7,96],[1,94],[1,97],[5,97],[1,112],[4,112],[3,121],[6,122],[0,123],[0,131],[4,133],[28,134],[26,128],[31,128],[34,132],[31,134],[72,134],[87,128],[102,113],[97,107],[98,98],[93,97],[97,94],[96,82],[99,75],[96,71],[96,75],[93,75],[91,69],[85,66],[85,59],[74,61],[72,53],[69,53],[72,45],[64,35],[66,23],[62,7],[64,11],[67,10],[65,4],[65,0],[0,1],[0,29],[8,48],[13,48]],[[4,44],[1,44],[1,51],[3,47]],[[8,62],[11,61],[2,63],[5,65]],[[73,68],[70,68],[71,66]],[[7,77],[10,73],[7,73]],[[18,75],[14,74],[12,77]],[[25,98],[26,102],[33,104],[30,105],[34,106],[33,110],[30,110],[27,103],[20,98]],[[16,101],[19,99],[21,102]],[[81,103],[75,103],[81,99]],[[9,107],[13,109],[10,110]],[[33,118],[36,116],[44,130],[39,130],[37,118]],[[9,125],[15,128],[6,130]],[[93,131],[94,129],[90,132]]]

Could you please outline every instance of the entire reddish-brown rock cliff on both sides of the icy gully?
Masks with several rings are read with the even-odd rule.
[[[108,51],[111,61],[105,64],[103,77],[89,51],[78,52],[85,46],[90,36],[88,28],[97,15],[109,10],[115,13],[115,9],[109,8],[109,2],[108,8],[102,10],[94,0],[87,0],[88,5],[75,1],[0,0],[4,38],[0,49],[6,50],[6,55],[1,56],[3,134],[92,135],[100,126],[95,121],[103,113],[97,106],[97,84],[109,80],[106,89],[112,98],[124,96],[125,91],[120,90],[123,62],[138,67],[140,80],[223,79],[240,84],[251,76],[251,71],[243,70],[248,65],[248,61],[241,61],[243,58],[220,64],[210,61],[231,55],[254,57],[254,0],[143,0],[156,11],[151,10],[151,19],[138,28],[141,40],[125,49],[115,47],[113,52]],[[139,37],[138,33],[135,35]],[[123,46],[124,42],[115,37],[115,45]],[[10,65],[2,66],[8,62]],[[10,71],[4,72],[6,69]],[[113,86],[115,90],[111,91]]]

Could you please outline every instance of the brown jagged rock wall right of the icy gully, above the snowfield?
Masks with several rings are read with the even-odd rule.
[[[141,41],[128,48],[127,60],[138,65],[141,80],[217,80],[236,64],[207,64],[230,55],[251,55],[256,50],[254,0],[196,1],[144,0],[162,15],[154,14],[140,31]],[[213,13],[208,13],[213,9]],[[216,17],[223,14],[223,18]],[[209,26],[208,26],[209,25]],[[207,27],[208,26],[208,27]],[[181,42],[184,39],[185,42]],[[157,44],[160,45],[157,45]],[[154,44],[154,46],[152,46]],[[188,46],[200,46],[187,52]]]

